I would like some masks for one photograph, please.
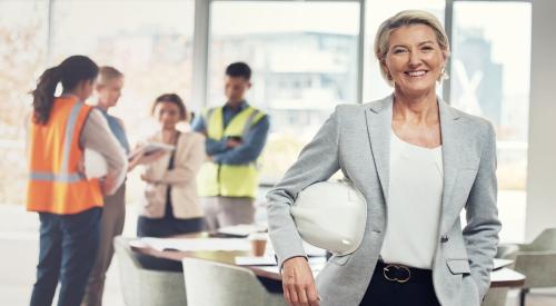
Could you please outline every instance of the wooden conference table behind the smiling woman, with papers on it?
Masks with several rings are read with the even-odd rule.
[[[209,238],[209,233],[187,234],[171,237],[176,238]],[[135,241],[140,241],[138,238]],[[162,260],[181,261],[186,257],[218,261],[221,264],[236,265],[236,257],[249,257],[250,250],[175,250],[157,249],[146,244],[130,243],[131,249],[143,256],[150,256]],[[315,275],[325,266],[325,257],[309,257],[309,265]],[[281,274],[277,265],[241,265],[248,268],[261,280],[265,287],[276,288],[281,283]],[[276,283],[272,285],[272,283]],[[525,276],[507,267],[493,270],[490,274],[490,287],[519,287],[525,283]],[[270,285],[269,285],[270,284]],[[281,286],[278,286],[281,287]]]

